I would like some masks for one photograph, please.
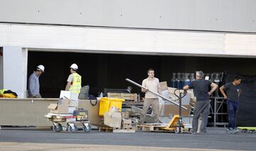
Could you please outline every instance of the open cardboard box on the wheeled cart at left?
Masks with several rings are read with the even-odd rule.
[[[51,109],[50,113],[68,113],[68,104],[68,99],[63,99],[59,105],[50,104],[47,108]]]

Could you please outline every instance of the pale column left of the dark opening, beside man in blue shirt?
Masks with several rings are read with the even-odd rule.
[[[28,50],[17,46],[3,47],[4,89],[26,97]]]

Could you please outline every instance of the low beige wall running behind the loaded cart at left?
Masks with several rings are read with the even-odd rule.
[[[52,126],[45,115],[50,112],[50,104],[56,104],[58,99],[0,99],[0,125],[33,125]],[[95,104],[95,101],[92,101]],[[92,125],[100,125],[99,102],[92,106],[88,100],[79,100],[79,108],[89,112]],[[65,126],[65,125],[63,125]]]

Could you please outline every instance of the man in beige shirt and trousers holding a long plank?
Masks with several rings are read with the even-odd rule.
[[[152,107],[152,112],[154,113],[154,123],[158,123],[159,121],[159,99],[158,96],[152,94],[151,91],[158,92],[161,94],[159,79],[154,77],[154,69],[148,70],[148,77],[143,80],[142,86],[146,87],[146,89],[142,88],[142,92],[145,94],[144,104],[142,108],[142,115],[140,116],[140,123],[143,124],[145,121],[146,112],[149,109],[149,106]]]

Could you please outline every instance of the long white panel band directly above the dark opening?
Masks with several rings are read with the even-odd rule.
[[[154,55],[256,56],[256,35],[0,24],[0,46]]]

